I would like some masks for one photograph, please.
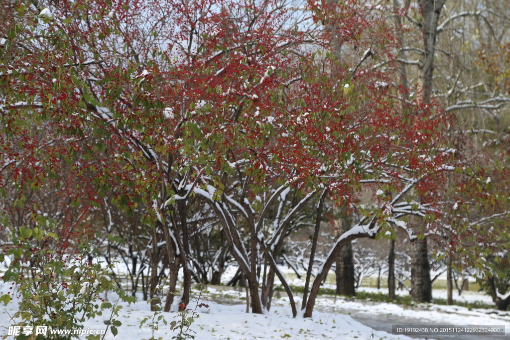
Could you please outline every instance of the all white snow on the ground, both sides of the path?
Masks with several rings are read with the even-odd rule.
[[[231,273],[232,272],[232,273]],[[230,279],[235,270],[231,269],[224,275],[224,280]],[[286,275],[289,273],[286,273]],[[292,284],[299,285],[301,280],[291,279]],[[329,281],[329,280],[328,280]],[[0,283],[0,295],[8,292],[10,284]],[[331,283],[327,287],[334,288]],[[354,320],[350,315],[392,316],[398,324],[398,320],[411,318],[428,324],[452,324],[452,325],[504,325],[506,334],[510,334],[510,314],[496,310],[474,309],[460,306],[418,305],[413,309],[408,306],[398,306],[389,303],[371,303],[335,296],[319,296],[312,319],[292,318],[289,300],[284,292],[279,292],[274,297],[271,311],[266,315],[253,315],[246,313],[246,293],[244,291],[219,290],[223,287],[209,286],[202,294],[200,303],[206,303],[209,307],[198,307],[196,311],[199,317],[191,326],[196,332],[197,340],[206,339],[411,339],[404,335],[393,335],[385,331],[375,331],[370,327]],[[362,287],[361,290],[376,293],[378,290]],[[386,290],[379,290],[386,293]],[[192,296],[198,296],[196,287]],[[397,291],[397,294],[406,295],[406,291]],[[446,291],[435,290],[435,298],[446,298]],[[114,294],[108,294],[108,300],[115,302]],[[140,328],[140,322],[145,317],[153,315],[149,305],[138,297],[140,302],[127,305],[122,304],[120,311],[122,326],[118,328],[116,337],[110,332],[105,339],[142,340],[152,336],[150,321]],[[460,301],[492,303],[489,296],[477,292],[464,292],[461,297],[454,294],[454,298]],[[295,296],[296,305],[300,306],[301,297]],[[190,302],[188,308],[194,308],[196,303]],[[11,316],[17,309],[16,299],[9,305],[0,306],[0,337],[7,335],[8,327],[15,324]],[[105,315],[109,315],[105,312]],[[163,313],[168,323],[177,320],[177,313]],[[97,317],[83,323],[85,329],[104,329],[105,317]],[[156,339],[170,339],[176,333],[169,326],[160,324],[155,331]],[[12,338],[12,337],[10,337]],[[82,337],[85,338],[85,335]],[[428,337],[429,339],[432,337]],[[510,338],[510,337],[509,337]]]

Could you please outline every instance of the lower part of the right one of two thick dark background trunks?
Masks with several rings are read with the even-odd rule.
[[[432,300],[426,239],[415,240],[411,245],[411,298],[416,302]]]

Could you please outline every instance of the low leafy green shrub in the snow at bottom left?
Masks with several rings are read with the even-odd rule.
[[[11,237],[12,247],[4,250],[0,256],[0,260],[4,261],[5,255],[14,255],[3,279],[4,282],[13,281],[20,296],[19,309],[13,316],[21,320],[17,325],[79,329],[83,328],[84,321],[103,315],[105,309],[111,309],[110,318],[105,324],[111,326],[115,335],[116,327],[121,323],[114,317],[118,316],[122,306],[117,306],[117,303],[112,306],[109,302],[99,305],[96,301],[106,291],[117,293],[119,299],[129,303],[136,299],[126,296],[112,282],[110,275],[113,265],[103,268],[101,262],[93,264],[85,260],[90,253],[99,255],[95,247],[88,243],[80,244],[79,256],[63,259],[48,247],[56,238],[55,233],[38,227],[20,227],[19,232]],[[33,246],[36,242],[39,247]],[[31,262],[37,267],[28,268],[25,265]],[[9,294],[0,297],[0,302],[6,305],[10,301]],[[70,336],[79,335],[71,333]],[[24,337],[21,334],[17,339]],[[46,338],[58,338],[58,335],[48,333]],[[99,335],[90,335],[88,338],[98,340]]]

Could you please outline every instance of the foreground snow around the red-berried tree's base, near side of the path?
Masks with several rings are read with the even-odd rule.
[[[0,284],[0,292],[5,294],[10,284]],[[193,292],[198,296],[198,291]],[[233,295],[231,294],[233,293]],[[371,328],[354,321],[348,315],[337,313],[316,312],[312,319],[292,318],[290,308],[275,307],[267,315],[254,315],[246,313],[245,304],[237,305],[221,305],[216,302],[208,301],[208,298],[216,294],[231,295],[234,300],[240,300],[241,293],[238,292],[216,292],[211,290],[205,294],[204,299],[200,303],[207,303],[209,307],[198,307],[199,317],[196,318],[191,330],[195,331],[196,340],[209,339],[270,339],[270,338],[290,338],[290,339],[410,339],[403,335],[391,335],[386,332],[376,332]],[[115,301],[115,296],[109,294],[110,301]],[[234,302],[234,301],[233,301]],[[149,339],[152,336],[152,330],[149,324],[145,324],[140,328],[140,321],[151,316],[149,306],[144,302],[127,305],[122,304],[120,311],[121,317],[118,318],[122,322],[119,327],[119,333],[116,337],[111,333],[107,333],[105,339],[122,339],[122,340],[142,340]],[[195,304],[190,303],[189,307],[194,308]],[[10,316],[17,309],[17,301],[11,301],[7,306],[0,307],[0,336],[7,335],[8,327],[14,324],[10,320]],[[84,328],[104,329],[103,321],[106,318],[105,313],[102,317],[95,320],[88,320],[83,323]],[[168,323],[177,320],[177,313],[163,313]],[[150,323],[150,321],[148,322]],[[160,327],[155,331],[155,338],[169,339],[176,333],[169,327]],[[372,334],[373,337],[372,337]],[[85,335],[83,336],[83,338]],[[11,337],[12,338],[12,337]]]

